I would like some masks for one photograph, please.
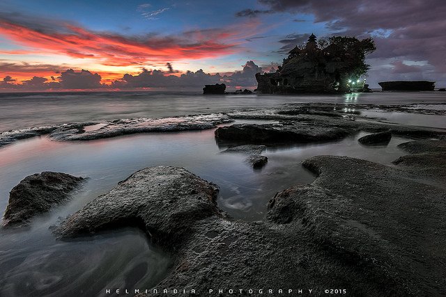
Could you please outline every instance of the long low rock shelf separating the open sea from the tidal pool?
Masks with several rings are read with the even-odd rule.
[[[36,136],[48,136],[54,141],[92,141],[128,134],[159,133],[213,129],[218,125],[234,120],[277,120],[277,125],[243,125],[219,129],[217,138],[233,138],[235,134],[248,136],[248,143],[276,141],[274,135],[284,140],[290,136],[291,142],[335,141],[357,131],[377,133],[390,131],[399,136],[433,137],[445,135],[441,129],[397,125],[380,118],[368,118],[362,111],[389,111],[426,115],[445,115],[446,111],[423,108],[422,104],[373,105],[373,104],[286,104],[270,109],[252,109],[229,113],[205,115],[185,115],[173,118],[131,118],[102,122],[78,122],[63,125],[31,127],[14,131],[0,132],[0,148]],[[236,131],[237,130],[237,131]],[[278,131],[281,132],[278,132]],[[259,133],[265,134],[259,138]],[[227,136],[227,134],[233,134]],[[249,135],[248,135],[249,134]],[[254,134],[254,135],[251,135]],[[243,136],[244,137],[244,136]],[[254,137],[254,138],[253,138]],[[268,140],[269,139],[269,140]],[[290,142],[286,140],[285,142]],[[246,143],[246,144],[248,144]]]

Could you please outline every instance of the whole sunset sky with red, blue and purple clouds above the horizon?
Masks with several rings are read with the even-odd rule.
[[[446,86],[445,0],[0,2],[0,91],[255,88],[318,38],[373,37],[367,83]]]

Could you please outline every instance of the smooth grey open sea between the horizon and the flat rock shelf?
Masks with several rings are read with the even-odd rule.
[[[443,92],[351,95],[213,95],[193,93],[0,93],[0,131],[65,122],[164,118],[293,102],[360,104],[445,103]]]

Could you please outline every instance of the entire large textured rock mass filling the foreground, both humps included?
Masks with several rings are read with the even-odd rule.
[[[422,158],[424,155],[420,154]],[[217,188],[183,168],[146,168],[70,216],[63,239],[137,225],[171,251],[174,268],[155,289],[346,289],[348,296],[440,296],[446,263],[442,188],[392,168],[316,156],[313,184],[270,201],[266,220],[232,220]],[[438,164],[439,168],[445,163]],[[444,176],[443,176],[444,178]],[[242,293],[238,291],[243,289]],[[254,294],[255,295],[255,294]]]

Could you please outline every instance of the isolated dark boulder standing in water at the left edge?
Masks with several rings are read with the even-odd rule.
[[[22,227],[38,214],[66,202],[70,192],[84,181],[62,172],[42,172],[25,177],[9,195],[3,227]]]

